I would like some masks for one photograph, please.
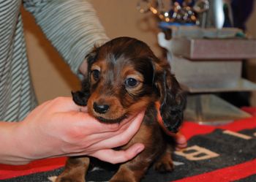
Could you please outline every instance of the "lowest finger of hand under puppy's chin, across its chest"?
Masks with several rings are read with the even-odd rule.
[[[141,151],[143,151],[144,145],[141,143],[136,143],[128,148],[126,151],[114,151],[113,149],[102,149],[96,151],[90,156],[94,156],[105,162],[110,162],[112,164],[118,164],[121,162],[127,162],[128,160],[134,158]]]

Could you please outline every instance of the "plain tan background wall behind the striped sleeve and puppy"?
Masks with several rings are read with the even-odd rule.
[[[157,45],[157,24],[151,14],[140,14],[136,10],[138,0],[91,0],[99,19],[110,38],[129,36],[147,42],[157,56],[162,49]],[[256,4],[255,4],[256,6]],[[56,96],[70,96],[70,91],[80,88],[77,77],[69,71],[56,50],[23,10],[24,27],[29,54],[31,75],[39,102]],[[248,30],[256,38],[256,11],[248,21]],[[256,61],[248,61],[249,78],[256,82]],[[256,93],[252,95],[256,105]]]

